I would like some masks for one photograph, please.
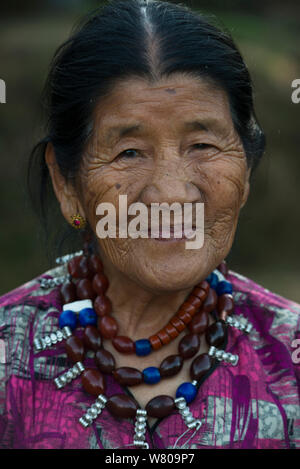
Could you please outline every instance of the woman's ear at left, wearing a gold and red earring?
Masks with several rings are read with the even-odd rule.
[[[71,216],[78,213],[85,218],[85,214],[74,185],[67,181],[60,172],[55,157],[54,147],[51,142],[48,143],[46,147],[45,161],[49,169],[54,193],[60,204],[61,212],[67,222],[70,223]]]

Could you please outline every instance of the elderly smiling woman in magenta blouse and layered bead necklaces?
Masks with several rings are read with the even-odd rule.
[[[82,249],[0,300],[2,448],[300,446],[300,307],[225,262],[264,151],[232,39],[183,5],[108,2],[46,91],[31,184],[45,201],[50,178]],[[174,218],[99,236],[121,195],[150,224],[153,204],[204,206],[203,243]]]

